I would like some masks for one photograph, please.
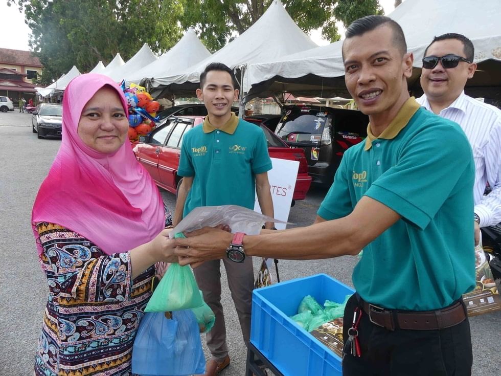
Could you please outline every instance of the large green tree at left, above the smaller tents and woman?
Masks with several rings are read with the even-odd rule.
[[[10,0],[11,3],[12,0]],[[30,47],[48,84],[77,65],[81,72],[120,53],[129,59],[148,43],[162,53],[181,37],[177,0],[18,0],[31,28]]]

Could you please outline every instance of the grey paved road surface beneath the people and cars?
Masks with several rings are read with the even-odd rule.
[[[0,160],[3,161],[0,169],[0,375],[32,374],[33,353],[47,301],[47,283],[36,257],[30,214],[37,189],[50,168],[60,141],[37,140],[29,127],[30,117],[29,114],[0,113]],[[291,209],[289,220],[295,224],[293,226],[313,222],[325,193],[325,189],[312,189],[305,201],[298,202]],[[173,210],[174,195],[166,191],[162,195]],[[281,260],[280,277],[287,280],[327,273],[351,285],[351,272],[356,262],[357,258],[351,256],[318,261]],[[240,376],[244,374],[246,352],[226,286],[223,306],[232,363],[221,374]],[[501,364],[501,313],[474,317],[470,322],[474,347],[473,375],[499,374],[496,369]]]

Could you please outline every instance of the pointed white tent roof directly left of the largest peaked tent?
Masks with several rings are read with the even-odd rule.
[[[134,83],[139,83],[143,79],[153,81],[154,77],[167,77],[209,56],[211,56],[209,50],[198,39],[195,30],[190,28],[169,51],[139,71],[131,72],[125,79]]]

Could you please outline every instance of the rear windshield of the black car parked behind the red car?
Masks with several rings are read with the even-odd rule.
[[[276,134],[284,141],[317,144],[325,125],[329,126],[327,113],[309,107],[286,109],[277,125]]]

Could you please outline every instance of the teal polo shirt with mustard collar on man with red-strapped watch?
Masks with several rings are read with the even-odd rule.
[[[474,164],[458,124],[409,98],[379,137],[349,148],[318,210],[348,215],[364,195],[402,216],[363,249],[356,291],[386,308],[427,311],[475,286]]]

